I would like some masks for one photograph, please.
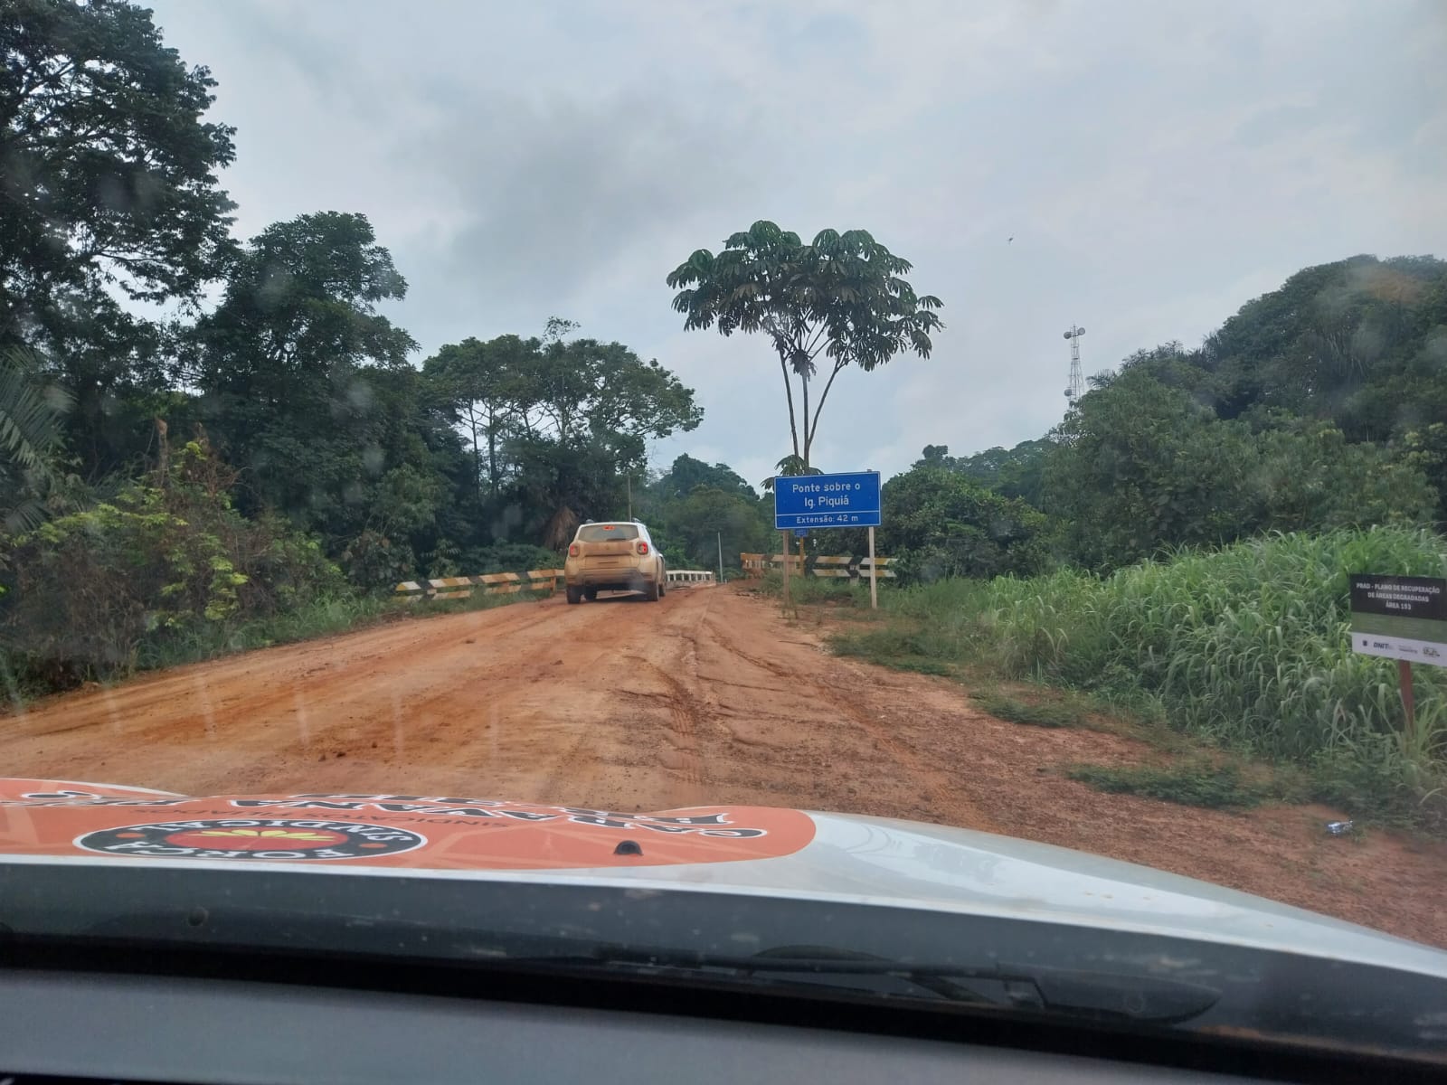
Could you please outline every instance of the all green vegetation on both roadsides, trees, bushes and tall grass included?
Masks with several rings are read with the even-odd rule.
[[[36,0],[0,30],[20,88],[0,129],[19,178],[0,201],[12,699],[382,621],[399,580],[554,567],[587,518],[645,519],[673,567],[734,576],[781,548],[773,479],[648,463],[703,417],[657,360],[563,318],[421,357],[385,315],[408,284],[365,214],[234,237],[216,84],[145,9]],[[935,365],[942,302],[909,272],[864,230],[806,243],[758,221],[660,281],[686,330],[767,340],[790,431],[752,451],[789,450],[787,475],[858,467],[813,454],[845,369]],[[1362,255],[1097,373],[1033,440],[925,446],[884,483],[883,613],[858,583],[796,579],[793,597],[851,619],[841,652],[968,678],[1001,719],[1129,718],[1279,767],[1262,794],[1443,825],[1447,671],[1417,668],[1406,726],[1393,664],[1347,647],[1346,576],[1443,576],[1444,522],[1447,263]],[[805,542],[864,553],[860,529]],[[1229,764],[1072,771],[1158,797],[1257,787]]]

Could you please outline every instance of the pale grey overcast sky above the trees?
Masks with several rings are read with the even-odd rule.
[[[1090,375],[1305,265],[1447,255],[1441,0],[153,7],[237,127],[240,236],[360,211],[417,362],[569,317],[696,391],[655,463],[755,485],[789,451],[777,362],[684,334],[664,276],[758,218],[870,230],[945,302],[929,360],[839,378],[826,470],[1042,435],[1072,323]]]

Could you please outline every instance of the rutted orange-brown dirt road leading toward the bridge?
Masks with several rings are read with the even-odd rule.
[[[1320,807],[1240,814],[1100,794],[1058,770],[1150,751],[1004,723],[943,678],[832,657],[816,628],[731,587],[398,622],[59,697],[3,726],[4,775],[910,817],[1447,945],[1444,845],[1330,838],[1334,812]]]

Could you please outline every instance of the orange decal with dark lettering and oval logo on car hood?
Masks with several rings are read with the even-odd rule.
[[[800,810],[754,806],[619,813],[449,796],[201,799],[0,780],[0,858],[587,869],[768,859],[797,852],[813,835],[813,819]]]

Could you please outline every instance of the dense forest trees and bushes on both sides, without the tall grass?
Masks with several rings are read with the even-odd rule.
[[[249,622],[399,579],[554,564],[580,519],[629,506],[676,566],[713,567],[722,550],[737,569],[739,551],[780,545],[771,480],[648,463],[650,440],[703,415],[658,362],[566,318],[420,357],[381,311],[408,286],[365,214],[234,237],[218,179],[234,132],[208,119],[208,71],[143,9],[22,0],[0,12],[0,52],[12,692],[171,658],[158,645],[252,642],[236,632]],[[875,252],[867,234],[831,236]],[[697,259],[670,282],[699,282]],[[713,318],[702,285],[680,298],[695,326]],[[860,369],[928,357],[939,302],[904,299]],[[809,463],[813,356],[776,346],[805,396],[780,470],[828,470]],[[904,583],[1100,576],[1262,532],[1431,527],[1444,508],[1447,263],[1353,256],[1292,275],[1194,349],[1092,378],[1036,440],[925,446],[886,482],[878,545]]]

